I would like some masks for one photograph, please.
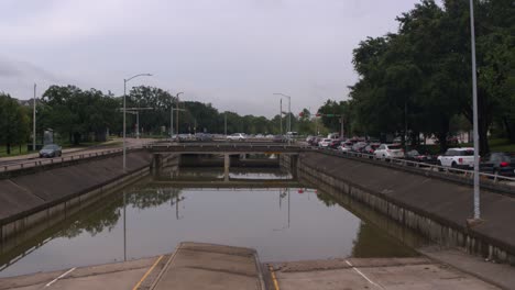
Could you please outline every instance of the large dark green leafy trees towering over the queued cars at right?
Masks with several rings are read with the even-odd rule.
[[[481,154],[489,133],[515,142],[515,5],[474,1]],[[423,0],[397,18],[398,32],[368,37],[353,51],[359,81],[350,87],[357,134],[420,133],[447,147],[453,124],[472,123],[469,1]],[[404,142],[404,138],[403,138]]]

